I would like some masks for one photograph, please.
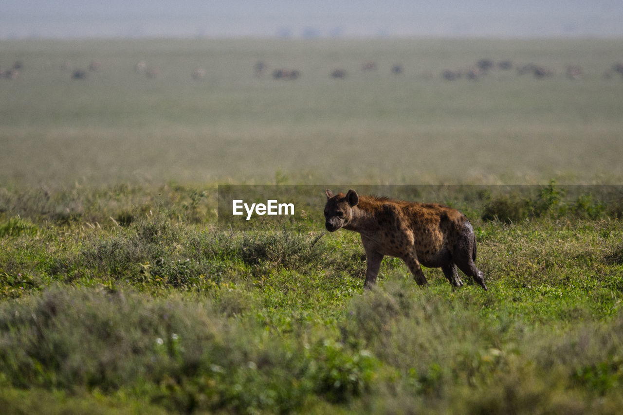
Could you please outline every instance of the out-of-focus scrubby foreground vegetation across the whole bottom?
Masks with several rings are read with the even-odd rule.
[[[336,336],[305,320],[267,331],[199,298],[55,287],[2,304],[0,362],[11,388],[176,412],[617,412],[620,315],[578,305],[576,324],[543,325],[503,304],[392,281],[346,302]]]

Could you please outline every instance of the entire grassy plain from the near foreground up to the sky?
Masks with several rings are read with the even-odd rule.
[[[482,58],[554,75],[442,79]],[[603,74],[622,59],[619,40],[0,42],[23,65],[0,79],[0,408],[619,413],[623,79]],[[439,269],[421,289],[386,258],[363,292],[326,186],[461,209],[489,290]],[[304,207],[237,227],[231,189]]]

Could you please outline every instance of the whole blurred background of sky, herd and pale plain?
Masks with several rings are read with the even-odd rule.
[[[623,2],[2,2],[4,183],[621,183]]]

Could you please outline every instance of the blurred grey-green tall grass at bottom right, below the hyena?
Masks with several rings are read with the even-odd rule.
[[[343,339],[397,371],[374,412],[616,413],[621,318],[568,330],[539,328],[477,298],[405,290],[358,298]],[[486,301],[486,300],[485,300]]]

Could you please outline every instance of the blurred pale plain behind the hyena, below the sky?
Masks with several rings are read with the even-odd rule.
[[[15,41],[0,177],[26,184],[621,183],[618,40]],[[539,64],[442,79],[480,59]],[[71,69],[98,72],[72,80]],[[148,79],[134,67],[158,69]],[[254,77],[265,62],[266,74]],[[364,62],[378,69],[363,72]],[[401,64],[404,73],[393,75]],[[584,71],[564,75],[568,64]],[[197,67],[201,81],[191,79]],[[298,69],[300,79],[271,77]],[[342,68],[345,79],[330,72]],[[33,151],[37,150],[37,151]]]

